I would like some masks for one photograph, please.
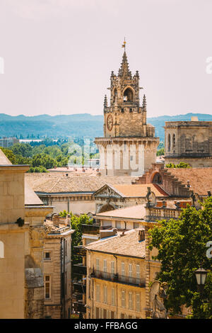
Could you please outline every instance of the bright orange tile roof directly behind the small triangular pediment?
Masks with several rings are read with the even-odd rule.
[[[108,181],[107,181],[108,184]],[[108,184],[109,185],[109,184]],[[163,191],[159,186],[155,186],[155,184],[115,184],[113,185],[114,189],[117,189],[119,193],[122,193],[124,197],[146,197],[147,188],[150,187],[151,191],[155,193],[156,197],[160,196],[168,196],[165,191]]]

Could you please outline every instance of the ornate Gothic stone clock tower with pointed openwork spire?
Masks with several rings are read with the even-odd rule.
[[[104,135],[95,138],[100,151],[100,173],[108,176],[142,175],[156,160],[159,138],[146,124],[146,96],[140,106],[139,72],[129,71],[125,45],[118,74],[110,77],[110,106],[104,101]]]

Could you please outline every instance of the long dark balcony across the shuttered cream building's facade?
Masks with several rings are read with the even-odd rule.
[[[145,287],[146,281],[144,278],[133,278],[131,276],[122,276],[121,274],[112,274],[103,271],[93,271],[91,278],[100,278],[102,280],[113,281],[117,283],[129,284],[132,286]]]

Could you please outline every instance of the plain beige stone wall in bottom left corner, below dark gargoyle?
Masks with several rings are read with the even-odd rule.
[[[0,224],[4,258],[0,258],[0,318],[24,319],[25,232],[27,227]]]

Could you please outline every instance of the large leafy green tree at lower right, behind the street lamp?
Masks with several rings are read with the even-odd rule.
[[[192,306],[192,318],[212,319],[212,274],[208,274],[203,295],[197,291],[194,274],[200,266],[212,269],[206,256],[206,243],[212,240],[212,197],[201,210],[191,206],[182,210],[179,220],[158,221],[149,235],[149,248],[158,249],[154,259],[161,262],[157,278],[169,286],[167,309],[177,314],[182,305]]]

